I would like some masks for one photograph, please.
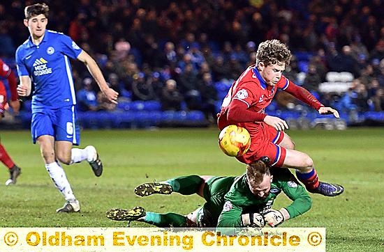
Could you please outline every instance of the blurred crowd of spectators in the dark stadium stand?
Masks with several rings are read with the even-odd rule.
[[[11,66],[15,46],[28,36],[24,6],[38,2],[50,6],[47,29],[93,56],[121,100],[202,110],[213,122],[223,98],[218,86],[254,63],[260,42],[279,39],[295,54],[284,74],[325,105],[384,111],[381,0],[7,1],[0,4],[0,55]],[[328,72],[353,78],[343,92],[322,92]],[[117,109],[94,91],[84,65],[73,62],[73,75],[80,110]],[[283,94],[277,101],[280,109],[297,105]]]

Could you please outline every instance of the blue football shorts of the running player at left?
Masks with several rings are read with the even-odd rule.
[[[31,135],[34,143],[39,136],[49,135],[54,137],[54,141],[69,141],[79,145],[80,127],[77,125],[75,106],[32,113]]]

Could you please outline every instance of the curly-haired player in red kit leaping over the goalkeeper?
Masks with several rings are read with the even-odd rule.
[[[251,164],[267,156],[272,166],[295,168],[297,178],[308,191],[324,196],[338,196],[343,193],[344,187],[318,180],[311,157],[295,150],[295,143],[284,132],[284,129],[288,129],[286,121],[265,113],[265,108],[272,102],[279,88],[313,107],[320,114],[333,114],[339,118],[337,110],[325,107],[308,90],[282,75],[291,56],[288,47],[279,40],[260,43],[256,52],[256,64],[249,66],[240,75],[223,100],[218,115],[219,129],[235,124],[249,131],[251,148],[237,157],[240,162]]]

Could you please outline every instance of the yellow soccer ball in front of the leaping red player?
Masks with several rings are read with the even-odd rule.
[[[251,136],[244,127],[229,125],[219,134],[219,146],[226,155],[239,157],[249,150]]]

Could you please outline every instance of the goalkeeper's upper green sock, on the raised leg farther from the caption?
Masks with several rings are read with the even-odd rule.
[[[166,181],[172,186],[173,191],[182,195],[196,194],[202,183],[202,178],[198,175],[182,176]]]

